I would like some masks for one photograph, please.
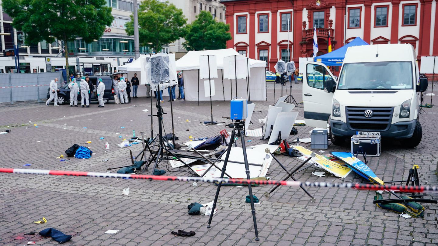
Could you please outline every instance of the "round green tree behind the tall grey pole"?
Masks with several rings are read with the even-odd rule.
[[[126,33],[134,35],[134,21],[125,24]],[[183,11],[173,4],[158,0],[144,0],[138,11],[138,38],[141,46],[148,46],[159,52],[162,46],[174,42],[186,34],[187,19]]]

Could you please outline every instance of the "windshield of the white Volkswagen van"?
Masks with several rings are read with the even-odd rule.
[[[412,63],[347,63],[339,75],[338,90],[412,89]]]

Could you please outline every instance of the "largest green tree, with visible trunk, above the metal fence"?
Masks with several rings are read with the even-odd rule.
[[[67,41],[99,39],[114,19],[106,0],[3,0],[2,6],[12,26],[24,32],[26,45],[64,40],[67,73]]]

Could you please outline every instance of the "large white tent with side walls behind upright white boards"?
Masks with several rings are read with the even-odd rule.
[[[184,74],[184,97],[188,101],[208,101],[210,97],[205,97],[204,81],[208,79],[199,79],[199,56],[213,55],[216,56],[218,67],[218,77],[215,81],[215,95],[212,100],[231,100],[236,96],[235,80],[223,79],[223,58],[227,56],[239,55],[234,49],[215,49],[189,51],[179,60],[177,60],[177,70],[182,70]],[[251,69],[249,77],[249,91],[251,101],[264,101],[266,98],[265,84],[265,61],[249,59]],[[208,87],[207,87],[208,88]],[[246,79],[237,79],[237,96],[249,99],[247,97]]]

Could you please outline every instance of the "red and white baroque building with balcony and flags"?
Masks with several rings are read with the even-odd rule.
[[[221,0],[233,39],[228,48],[266,60],[312,56],[330,38],[338,49],[356,37],[370,44],[410,43],[420,56],[438,56],[436,0]],[[288,25],[289,23],[289,25]],[[289,38],[288,38],[289,37]],[[289,43],[289,50],[288,50]]]

